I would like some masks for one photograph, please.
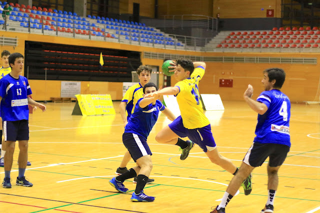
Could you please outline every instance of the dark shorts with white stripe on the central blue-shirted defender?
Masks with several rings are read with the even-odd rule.
[[[152,155],[146,140],[134,133],[125,132],[122,135],[122,142],[129,151],[134,162],[145,155]]]

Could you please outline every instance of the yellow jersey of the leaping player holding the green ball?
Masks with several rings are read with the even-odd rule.
[[[201,128],[210,124],[203,113],[198,89],[199,81],[203,75],[203,67],[198,66],[189,78],[174,85],[179,88],[179,93],[175,96],[181,112],[183,126],[187,129]]]

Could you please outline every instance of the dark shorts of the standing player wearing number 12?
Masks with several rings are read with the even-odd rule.
[[[29,140],[29,121],[3,121],[4,141],[27,141]]]

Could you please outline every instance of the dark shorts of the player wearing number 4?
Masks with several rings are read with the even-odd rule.
[[[251,167],[259,167],[269,157],[269,166],[281,166],[288,154],[290,147],[283,144],[254,143],[247,151],[243,162]]]

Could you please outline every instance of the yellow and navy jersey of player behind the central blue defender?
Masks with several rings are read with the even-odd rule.
[[[134,84],[133,86],[130,86],[126,90],[121,100],[121,102],[126,102],[126,107],[125,107],[126,115],[127,115],[126,119],[129,119],[129,117],[134,111],[134,106],[136,102],[140,98],[143,98],[143,86],[141,86],[140,83]]]

